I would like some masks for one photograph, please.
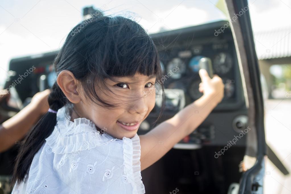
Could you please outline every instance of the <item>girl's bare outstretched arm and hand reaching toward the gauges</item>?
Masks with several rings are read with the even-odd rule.
[[[145,135],[140,135],[141,170],[149,167],[185,136],[191,134],[222,100],[224,85],[220,77],[211,79],[204,69],[199,71],[203,96],[184,107],[175,116],[160,123]],[[196,113],[195,113],[196,111]],[[197,112],[198,111],[198,112]]]

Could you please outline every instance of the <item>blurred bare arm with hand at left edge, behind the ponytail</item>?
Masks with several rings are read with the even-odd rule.
[[[49,93],[49,89],[38,92],[31,103],[0,125],[0,152],[8,150],[16,141],[21,140],[40,116],[47,112]]]

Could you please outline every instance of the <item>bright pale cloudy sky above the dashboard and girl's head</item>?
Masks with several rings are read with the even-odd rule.
[[[156,33],[226,19],[218,0],[76,1],[29,0],[0,2],[0,85],[12,58],[59,50],[70,30],[82,19],[86,6],[134,19]],[[250,0],[253,31],[291,25],[291,1]]]

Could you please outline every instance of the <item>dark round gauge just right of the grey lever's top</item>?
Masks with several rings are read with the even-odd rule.
[[[227,73],[232,66],[232,58],[228,53],[219,53],[213,59],[213,69],[215,73]]]

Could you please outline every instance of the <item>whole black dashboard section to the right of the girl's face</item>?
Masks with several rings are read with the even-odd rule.
[[[247,109],[235,45],[230,27],[223,33],[214,34],[227,21],[218,21],[150,34],[159,51],[160,63],[164,70],[165,110],[159,121],[174,116],[180,109],[202,96],[198,71],[199,60],[207,57],[212,61],[213,73],[223,79],[224,98],[191,135],[185,137],[174,148],[196,149],[203,145],[226,145],[241,130],[245,129]],[[156,107],[142,123],[140,134],[150,130],[162,105],[162,90],[156,84],[158,95]],[[195,112],[194,112],[195,113]],[[147,123],[148,122],[148,123]],[[245,137],[236,146],[244,146]]]

